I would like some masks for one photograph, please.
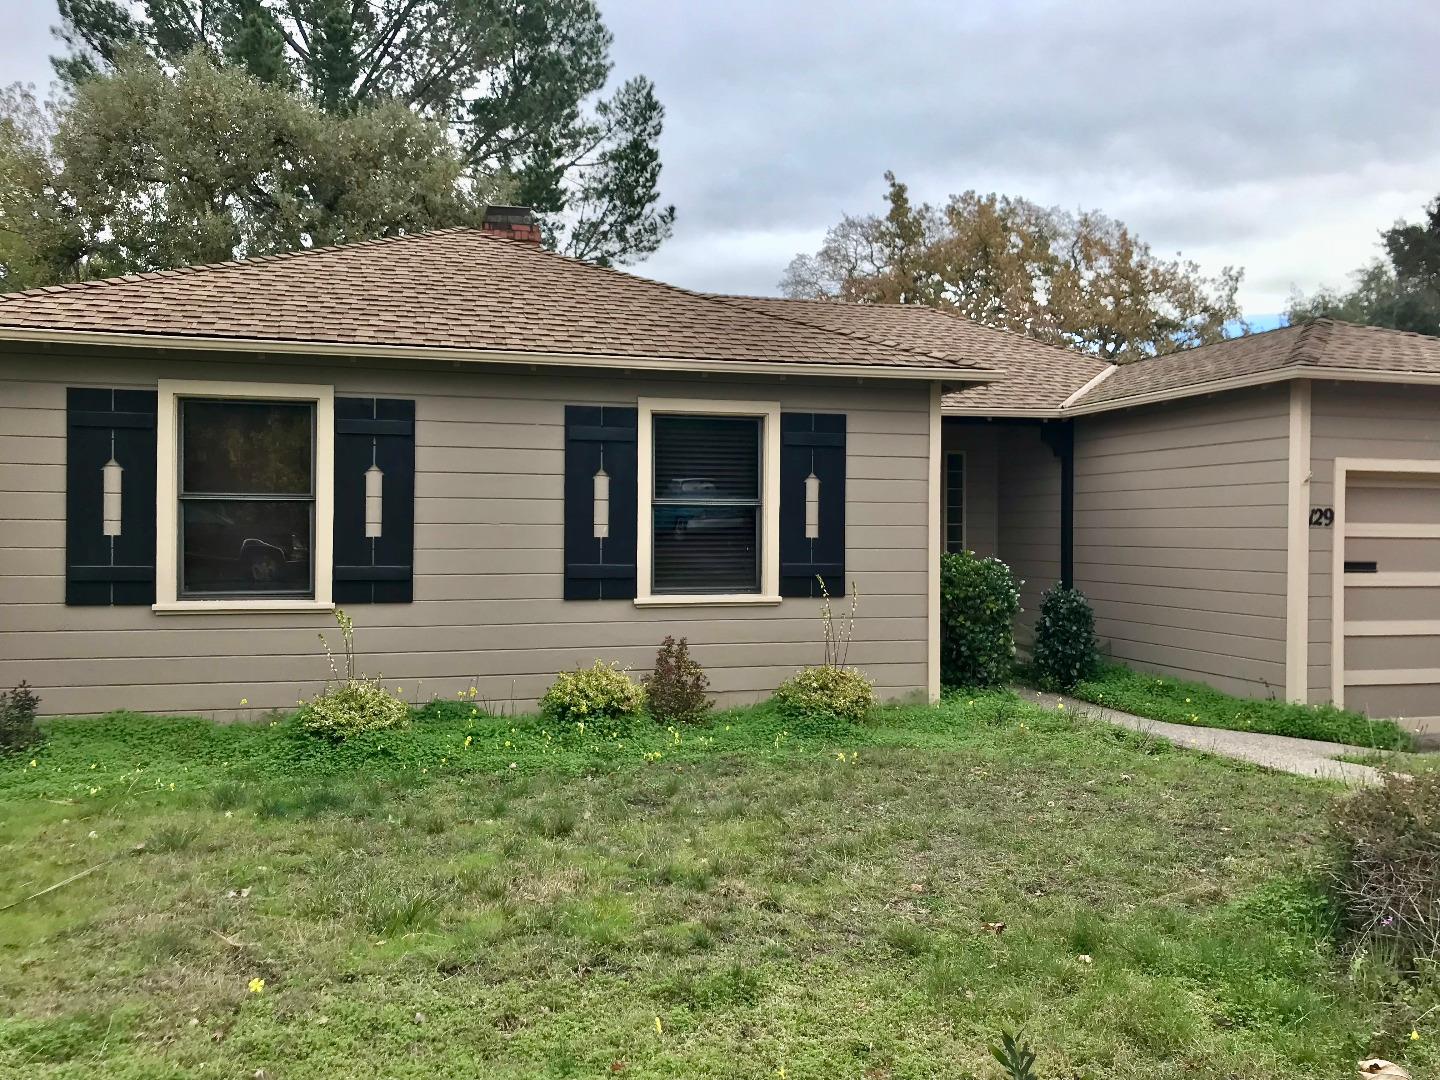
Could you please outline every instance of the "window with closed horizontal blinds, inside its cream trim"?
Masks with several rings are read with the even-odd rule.
[[[757,416],[654,418],[655,593],[760,590]]]

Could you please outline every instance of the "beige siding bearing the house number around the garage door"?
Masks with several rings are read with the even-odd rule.
[[[1335,505],[1335,458],[1440,461],[1440,389],[1316,382],[1310,392],[1312,507]],[[1325,703],[1333,697],[1331,688],[1333,544],[1333,528],[1310,530],[1312,703]],[[1405,603],[1416,602],[1411,598],[1401,599]],[[1381,618],[1421,616],[1413,615],[1408,609],[1395,609]],[[1427,611],[1424,618],[1440,618],[1440,611]]]

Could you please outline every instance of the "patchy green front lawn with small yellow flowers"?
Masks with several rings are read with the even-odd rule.
[[[1433,1076],[1434,988],[1331,945],[1333,793],[1008,694],[55,721],[0,762],[0,904],[99,870],[0,912],[0,1074],[989,1080],[1008,1028],[1047,1080]]]

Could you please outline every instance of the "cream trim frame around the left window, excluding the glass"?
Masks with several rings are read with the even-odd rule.
[[[161,379],[156,425],[156,603],[163,615],[196,612],[307,612],[334,611],[336,498],[336,387],[302,383],[232,383],[222,380]],[[179,599],[180,528],[180,399],[225,397],[271,402],[311,402],[315,406],[315,560],[314,599]]]

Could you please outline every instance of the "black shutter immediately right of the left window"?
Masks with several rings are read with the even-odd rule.
[[[364,534],[364,478],[380,469],[380,536]],[[336,603],[415,599],[415,402],[336,397]]]

